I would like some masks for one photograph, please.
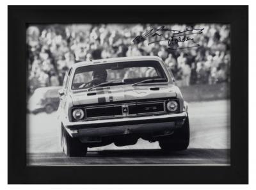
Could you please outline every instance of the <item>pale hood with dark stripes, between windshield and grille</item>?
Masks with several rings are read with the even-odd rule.
[[[73,92],[73,105],[119,102],[127,100],[143,100],[176,97],[176,86],[173,84],[150,86],[108,86],[91,91]]]

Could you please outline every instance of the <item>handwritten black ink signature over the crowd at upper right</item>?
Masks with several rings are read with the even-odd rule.
[[[168,45],[168,49],[170,49],[170,50],[187,49],[187,48],[191,48],[191,47],[200,46],[199,44],[197,44],[194,41],[194,38],[192,38],[190,36],[202,34],[203,30],[204,30],[204,28],[195,29],[193,26],[191,26],[190,28],[186,28],[184,31],[179,31],[179,30],[175,30],[175,29],[166,28],[165,26],[161,26],[160,28],[157,28],[156,30],[154,30],[152,28],[149,31],[147,31],[145,34],[143,34],[141,36],[136,36],[136,38],[134,38],[134,40],[132,40],[132,42],[134,44],[140,44],[141,42],[144,42],[149,37],[163,36],[163,38],[161,38],[160,40],[150,42],[150,43],[148,43],[148,45],[158,43],[161,41],[168,41],[167,45]],[[168,35],[170,35],[170,37],[164,38],[164,35],[166,34],[166,32],[168,32]],[[179,46],[177,47],[177,45],[179,43],[184,43],[184,42],[191,42],[191,43],[187,47],[179,47]]]

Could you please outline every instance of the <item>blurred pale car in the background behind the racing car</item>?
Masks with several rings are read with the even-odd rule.
[[[58,109],[61,86],[37,88],[28,100],[28,110],[31,113],[52,113]]]

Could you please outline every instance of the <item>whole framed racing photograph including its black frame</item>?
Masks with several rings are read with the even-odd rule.
[[[248,184],[248,6],[8,6],[9,184]]]

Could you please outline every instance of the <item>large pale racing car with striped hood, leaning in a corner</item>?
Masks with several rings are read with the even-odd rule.
[[[74,64],[60,93],[61,146],[70,157],[88,147],[159,141],[164,151],[189,145],[188,106],[156,56]]]

